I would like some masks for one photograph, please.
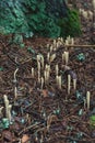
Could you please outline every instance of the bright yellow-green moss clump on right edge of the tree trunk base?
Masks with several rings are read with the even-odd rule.
[[[61,28],[61,36],[79,36],[81,34],[81,22],[76,10],[69,10],[67,18],[59,19],[58,25]]]

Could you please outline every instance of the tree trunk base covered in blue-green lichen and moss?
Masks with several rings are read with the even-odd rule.
[[[78,11],[69,10],[64,0],[2,0],[0,32],[58,37],[76,36],[81,30]]]

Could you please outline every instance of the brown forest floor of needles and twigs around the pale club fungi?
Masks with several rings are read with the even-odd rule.
[[[91,0],[79,0],[76,7],[92,10]],[[92,21],[80,19],[82,35],[75,37],[74,43],[91,45]],[[52,50],[50,57],[56,54],[56,58],[50,62],[47,54],[52,40],[24,40],[25,47],[8,45],[8,40],[9,36],[0,35],[0,143],[95,143],[95,47],[61,45]],[[69,52],[67,66],[62,61],[66,51]],[[44,57],[41,81],[38,79],[38,54]],[[49,64],[50,76],[43,85],[45,67]],[[56,81],[56,65],[61,88]],[[71,75],[70,92],[68,75]],[[73,79],[76,79],[76,89],[73,89]],[[9,112],[11,109],[11,114],[8,112],[10,122],[5,101]]]

